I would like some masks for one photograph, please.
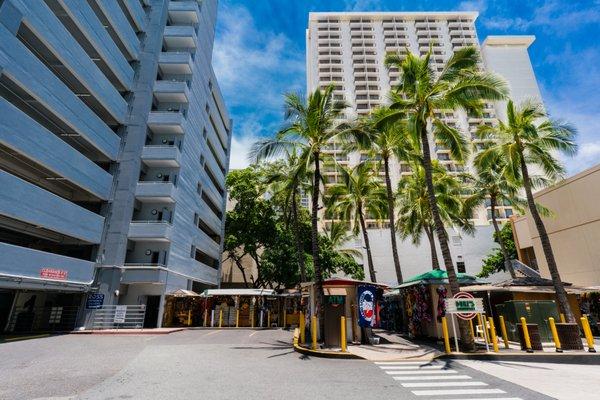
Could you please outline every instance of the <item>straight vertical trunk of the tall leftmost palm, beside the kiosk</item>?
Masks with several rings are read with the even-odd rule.
[[[320,318],[323,313],[323,299],[325,293],[323,292],[323,271],[319,264],[319,192],[321,184],[321,169],[319,165],[320,154],[318,151],[313,153],[315,159],[315,172],[312,192],[312,210],[311,210],[311,223],[312,223],[312,256],[313,266],[315,268],[315,316],[319,320],[319,331],[321,335],[325,332],[325,321]]]

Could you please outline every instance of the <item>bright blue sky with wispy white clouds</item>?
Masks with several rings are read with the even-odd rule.
[[[310,11],[479,11],[477,31],[535,35],[529,48],[544,102],[579,130],[569,174],[600,162],[600,0],[221,0],[213,62],[234,119],[231,167],[283,120],[282,98],[305,91]]]

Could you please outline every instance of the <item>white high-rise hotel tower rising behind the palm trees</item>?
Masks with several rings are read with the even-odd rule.
[[[352,120],[387,101],[392,86],[397,84],[399,72],[388,70],[384,57],[389,52],[405,53],[407,50],[426,54],[430,47],[434,70],[441,71],[446,60],[465,46],[479,46],[475,30],[476,12],[390,12],[390,13],[310,13],[306,31],[307,89],[334,86],[334,96],[349,104],[345,118]],[[495,72],[507,81],[515,102],[527,98],[541,100],[527,48],[533,36],[489,36],[481,45],[481,68]],[[485,105],[482,117],[467,115],[463,111],[442,112],[449,124],[457,127],[469,139],[481,124],[494,124],[496,118],[505,117],[505,102]],[[458,173],[466,166],[457,165],[448,149],[430,143],[435,156],[451,173]],[[344,153],[335,143],[327,152],[342,164],[355,165],[366,155]],[[395,187],[402,174],[410,174],[408,165],[392,162],[392,184]],[[325,182],[335,183],[335,170],[325,170]],[[382,172],[383,174],[383,172]],[[512,215],[511,207],[499,207],[499,217]],[[477,273],[481,259],[493,247],[489,219],[491,211],[483,207],[473,215],[478,227],[474,238],[450,232],[454,260],[459,271]],[[368,221],[374,228],[369,235],[374,245],[374,261],[378,281],[395,282],[389,232],[378,228],[377,221]],[[357,242],[357,247],[360,247]],[[429,252],[418,250],[408,242],[401,243],[401,264],[405,277],[423,271],[428,265]]]

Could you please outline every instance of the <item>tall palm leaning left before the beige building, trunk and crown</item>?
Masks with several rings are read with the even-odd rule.
[[[533,199],[532,187],[535,186],[535,180],[530,175],[529,166],[539,168],[550,180],[561,178],[565,170],[555,154],[576,154],[576,130],[567,123],[548,118],[543,107],[532,101],[526,101],[519,107],[509,101],[506,115],[507,121],[500,121],[497,127],[482,127],[478,130],[480,138],[489,140],[490,145],[476,156],[476,162],[487,167],[497,157],[501,157],[511,180],[522,182],[527,208],[540,235],[558,304],[567,320],[575,322],[546,227]]]

